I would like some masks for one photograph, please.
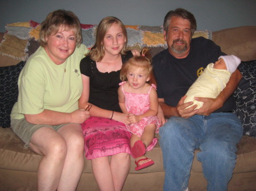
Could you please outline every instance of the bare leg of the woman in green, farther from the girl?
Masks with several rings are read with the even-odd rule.
[[[38,154],[43,155],[37,173],[38,191],[55,191],[67,155],[65,140],[55,130],[44,127],[32,135],[30,147]]]

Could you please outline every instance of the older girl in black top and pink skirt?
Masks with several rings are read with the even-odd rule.
[[[92,159],[100,190],[122,190],[130,169],[130,133],[124,124],[130,122],[119,107],[117,90],[123,63],[139,52],[126,51],[126,44],[125,26],[108,16],[98,25],[96,44],[80,63],[83,90],[79,108],[93,105],[92,117],[82,124],[85,156]]]

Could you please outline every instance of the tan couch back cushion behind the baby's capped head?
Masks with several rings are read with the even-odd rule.
[[[212,33],[212,40],[222,52],[240,57],[242,61],[256,60],[256,26],[228,28]]]

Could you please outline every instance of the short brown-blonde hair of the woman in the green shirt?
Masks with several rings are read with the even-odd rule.
[[[72,29],[76,36],[76,45],[82,43],[82,33],[79,18],[72,12],[66,10],[56,10],[50,12],[41,24],[40,44],[47,44],[46,38],[52,34],[56,34],[60,27],[64,29]]]

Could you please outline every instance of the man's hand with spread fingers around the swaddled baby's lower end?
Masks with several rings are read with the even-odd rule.
[[[188,103],[184,104],[184,100],[186,97],[187,97],[186,95],[181,97],[179,103],[176,106],[177,116],[183,117],[183,118],[192,117],[193,115],[197,114],[197,112],[199,112],[198,109],[195,109],[197,107],[197,105],[193,105],[192,107],[185,109],[189,105],[193,104],[192,101],[189,101]]]

